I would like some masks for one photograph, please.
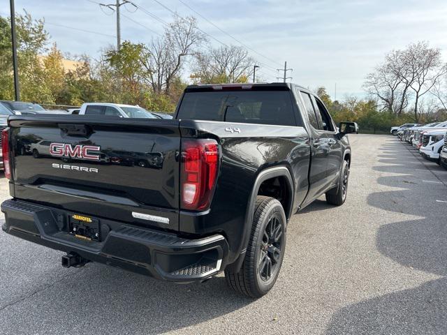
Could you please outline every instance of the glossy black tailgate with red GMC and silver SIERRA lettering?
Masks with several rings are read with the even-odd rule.
[[[178,230],[176,120],[12,117],[15,198]]]

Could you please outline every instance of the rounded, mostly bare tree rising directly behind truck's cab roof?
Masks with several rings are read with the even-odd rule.
[[[191,77],[203,84],[247,82],[255,63],[244,47],[225,45],[196,54]]]

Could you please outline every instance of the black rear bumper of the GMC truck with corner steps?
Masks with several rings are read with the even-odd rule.
[[[220,234],[184,239],[175,234],[100,219],[101,241],[68,234],[72,213],[22,200],[1,204],[8,234],[105,265],[177,283],[204,281],[226,267],[228,243]]]

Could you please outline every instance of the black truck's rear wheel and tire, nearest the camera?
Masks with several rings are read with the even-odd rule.
[[[267,294],[277,281],[286,248],[286,214],[281,202],[258,196],[244,262],[239,272],[225,270],[226,282],[252,298]]]

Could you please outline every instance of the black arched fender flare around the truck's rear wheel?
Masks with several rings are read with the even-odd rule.
[[[228,265],[231,267],[232,271],[238,272],[242,267],[242,262],[244,262],[245,253],[247,251],[247,246],[249,244],[250,234],[251,234],[251,225],[253,225],[253,216],[256,205],[256,197],[258,195],[259,188],[263,181],[267,179],[271,179],[274,177],[286,177],[288,192],[290,193],[290,199],[288,200],[288,209],[284,209],[286,211],[286,219],[291,217],[292,207],[293,207],[293,198],[295,197],[295,186],[293,183],[293,179],[291,176],[291,172],[285,166],[276,166],[274,168],[267,168],[259,172],[256,180],[254,181],[254,186],[251,189],[251,194],[249,197],[249,202],[247,204],[247,213],[245,214],[245,222],[244,222],[244,234],[242,236],[242,249],[239,257],[233,262],[233,264]]]

